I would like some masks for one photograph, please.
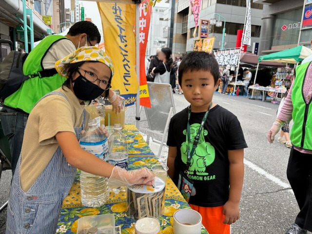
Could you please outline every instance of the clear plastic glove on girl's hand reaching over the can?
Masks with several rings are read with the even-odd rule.
[[[155,184],[155,175],[153,172],[143,167],[138,170],[127,171],[121,167],[114,167],[111,177],[108,179],[108,186],[120,187],[134,184]]]

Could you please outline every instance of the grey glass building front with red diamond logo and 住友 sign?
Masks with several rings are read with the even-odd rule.
[[[302,30],[299,40],[305,0],[254,0],[263,4],[259,52],[270,54],[296,47],[298,42],[310,47],[312,30]]]

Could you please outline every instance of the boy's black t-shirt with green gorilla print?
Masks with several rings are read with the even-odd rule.
[[[174,177],[176,185],[179,172],[186,169],[187,111],[188,108],[172,117],[168,132],[167,145],[177,147]],[[205,112],[192,112],[191,139],[197,135],[204,114]],[[189,172],[190,178],[195,181],[196,194],[190,197],[189,203],[202,207],[224,205],[229,199],[230,186],[228,150],[244,148],[247,148],[247,144],[237,117],[216,105],[209,112],[191,160]]]

